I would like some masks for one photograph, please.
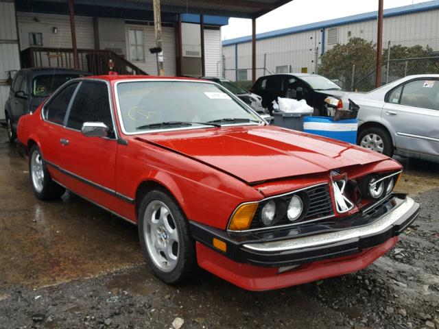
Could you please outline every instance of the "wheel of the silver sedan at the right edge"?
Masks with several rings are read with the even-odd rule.
[[[388,132],[380,127],[370,127],[362,131],[358,138],[358,144],[385,156],[392,157],[393,155],[392,139]]]

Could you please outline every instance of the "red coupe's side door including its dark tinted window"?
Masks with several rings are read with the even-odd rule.
[[[82,134],[85,122],[105,123],[108,137]],[[91,201],[111,208],[108,195],[115,195],[117,140],[108,96],[108,86],[98,80],[80,82],[64,120],[60,136],[60,167],[71,177],[67,187]]]

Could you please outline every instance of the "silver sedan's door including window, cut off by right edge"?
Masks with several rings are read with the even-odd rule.
[[[410,80],[390,90],[381,119],[394,130],[396,149],[439,156],[439,80]]]

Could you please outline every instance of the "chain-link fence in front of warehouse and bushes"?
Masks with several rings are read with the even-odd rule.
[[[251,63],[248,52],[240,53],[237,59],[234,54],[225,54],[222,76],[244,86],[251,85],[248,82],[252,80]],[[258,54],[257,77],[272,73],[318,73],[345,90],[368,91],[375,88],[376,63],[376,44],[354,37],[323,55],[318,47]],[[439,73],[439,38],[385,40],[379,73],[383,84],[406,75]]]

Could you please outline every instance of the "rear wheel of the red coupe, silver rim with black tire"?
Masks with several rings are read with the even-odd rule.
[[[37,145],[32,146],[29,151],[29,179],[35,196],[40,200],[59,199],[65,192],[64,187],[52,180]]]

